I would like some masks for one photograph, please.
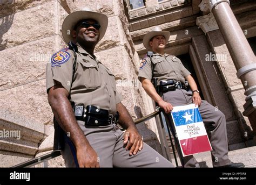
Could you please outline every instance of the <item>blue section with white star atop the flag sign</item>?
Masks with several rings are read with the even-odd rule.
[[[172,116],[176,126],[203,122],[198,108],[172,112]]]

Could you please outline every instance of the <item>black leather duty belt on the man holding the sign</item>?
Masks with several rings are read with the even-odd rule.
[[[167,91],[173,91],[176,89],[185,89],[187,90],[188,88],[188,83],[186,81],[186,84],[177,81],[177,80],[162,80],[159,82],[160,85],[157,86],[157,88],[159,89],[159,91],[161,93],[166,93]]]

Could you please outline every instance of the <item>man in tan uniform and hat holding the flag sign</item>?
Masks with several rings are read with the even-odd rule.
[[[140,63],[138,76],[143,88],[166,113],[172,111],[173,106],[191,103],[198,105],[210,136],[213,167],[244,167],[243,163],[233,163],[228,159],[224,114],[215,110],[214,106],[208,102],[201,100],[200,92],[191,73],[176,56],[164,52],[169,37],[170,32],[161,31],[159,27],[156,27],[143,38],[144,46],[153,52],[152,56],[147,54]],[[160,88],[162,96],[157,94],[151,82],[152,78],[157,79],[157,86]],[[188,81],[191,90],[186,88],[185,80]],[[165,84],[168,84],[169,87]],[[190,155],[184,157],[184,167],[199,167],[199,165],[193,155]]]

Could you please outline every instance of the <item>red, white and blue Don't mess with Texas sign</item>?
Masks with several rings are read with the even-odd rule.
[[[171,115],[183,156],[212,150],[198,106],[174,106]]]

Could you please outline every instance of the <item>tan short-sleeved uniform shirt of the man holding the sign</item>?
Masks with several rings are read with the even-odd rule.
[[[173,55],[153,53],[152,62],[154,64],[153,77],[158,79],[158,85],[161,80],[172,79],[185,83],[185,78],[191,74],[183,66],[181,61]],[[138,77],[140,81],[142,80],[141,77],[149,80],[152,79],[151,60],[149,56],[146,56],[140,63]]]

